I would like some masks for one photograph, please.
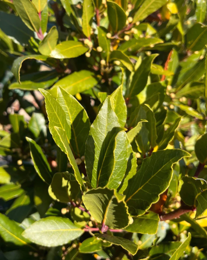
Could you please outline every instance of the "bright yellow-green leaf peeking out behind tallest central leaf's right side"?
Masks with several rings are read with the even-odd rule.
[[[117,87],[117,89],[110,96],[112,108],[119,119],[119,124],[121,127],[124,127],[126,123],[127,109],[126,102],[122,95],[122,89],[122,85]]]

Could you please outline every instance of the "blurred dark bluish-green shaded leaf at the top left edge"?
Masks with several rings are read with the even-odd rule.
[[[27,44],[30,37],[34,37],[34,32],[22,22],[20,17],[4,12],[0,12],[0,16],[0,28],[6,35],[21,44]]]

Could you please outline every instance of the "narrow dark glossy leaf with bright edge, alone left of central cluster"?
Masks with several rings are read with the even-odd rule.
[[[34,168],[39,177],[46,183],[50,184],[52,181],[52,170],[48,163],[45,154],[42,152],[41,147],[36,144],[34,140],[26,137],[30,146],[30,154],[34,163]]]

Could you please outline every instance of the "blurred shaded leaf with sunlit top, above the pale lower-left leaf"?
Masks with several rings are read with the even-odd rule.
[[[9,219],[21,223],[29,215],[33,208],[33,203],[29,195],[22,194],[15,199],[11,207],[6,211],[6,215]]]

